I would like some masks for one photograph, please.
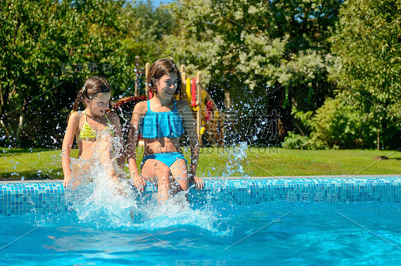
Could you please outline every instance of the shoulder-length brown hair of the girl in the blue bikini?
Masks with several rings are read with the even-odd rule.
[[[147,83],[149,84],[150,89],[157,93],[156,82],[164,75],[169,73],[177,73],[177,88],[174,91],[174,96],[179,93],[179,99],[182,100],[182,80],[181,73],[179,72],[177,66],[174,61],[168,58],[160,58],[156,62],[154,62],[149,69],[149,74],[147,76]]]

